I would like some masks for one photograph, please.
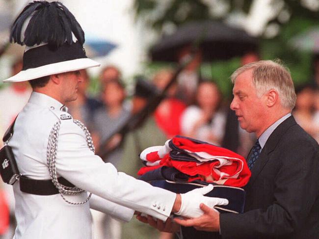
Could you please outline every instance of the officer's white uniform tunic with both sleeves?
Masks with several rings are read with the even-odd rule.
[[[73,119],[68,119],[67,112],[60,110],[61,106],[53,98],[33,92],[18,115],[9,145],[22,175],[36,180],[50,179],[49,134],[60,120],[57,176],[95,195],[88,203],[70,205],[60,194],[40,196],[21,192],[16,182],[13,190],[18,226],[14,239],[91,239],[89,208],[125,221],[132,218],[133,210],[166,220],[176,194],[117,172],[112,164],[104,163],[88,148],[84,132]],[[81,202],[86,197],[87,192],[66,196],[72,202]]]

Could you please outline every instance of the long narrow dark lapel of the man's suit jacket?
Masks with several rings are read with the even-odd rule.
[[[260,172],[265,167],[267,161],[269,160],[269,154],[276,148],[279,140],[283,136],[283,134],[292,126],[295,125],[296,122],[293,116],[290,116],[285,121],[283,121],[269,136],[266,141],[262,152],[260,153],[259,159],[256,160],[255,165],[251,170],[251,178],[249,180],[249,185],[253,185],[256,178],[260,174]],[[250,153],[249,153],[250,155]],[[248,156],[249,156],[248,155]],[[247,158],[248,159],[248,158]]]

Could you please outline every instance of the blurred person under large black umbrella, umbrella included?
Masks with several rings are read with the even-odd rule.
[[[164,34],[152,47],[150,54],[153,61],[181,63],[192,58],[177,78],[177,97],[191,105],[201,81],[199,70],[202,62],[242,56],[255,51],[257,46],[258,39],[244,30],[222,22],[205,20],[188,22],[172,34]]]

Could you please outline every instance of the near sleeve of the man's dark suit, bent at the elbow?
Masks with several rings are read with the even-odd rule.
[[[220,214],[223,239],[284,236],[305,223],[318,196],[318,145],[296,137],[278,148],[276,160],[281,165],[274,179],[272,205],[242,214]]]

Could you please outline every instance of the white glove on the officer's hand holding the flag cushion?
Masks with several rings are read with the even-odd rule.
[[[213,188],[213,185],[210,184],[209,186],[196,188],[189,192],[182,193],[181,209],[175,214],[188,218],[199,217],[204,214],[204,212],[199,208],[201,203],[204,203],[210,208],[213,208],[216,205],[227,205],[228,200],[225,198],[203,196],[212,191]]]

